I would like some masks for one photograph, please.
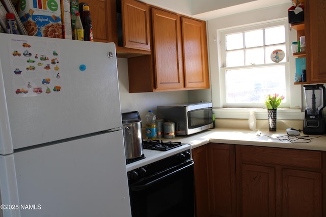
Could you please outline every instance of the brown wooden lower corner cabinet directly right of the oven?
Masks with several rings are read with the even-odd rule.
[[[236,216],[235,146],[207,144],[193,158],[196,216]]]

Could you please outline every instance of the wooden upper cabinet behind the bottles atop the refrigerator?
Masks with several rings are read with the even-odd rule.
[[[149,11],[134,0],[83,0],[90,6],[94,41],[116,43],[118,57],[150,54]]]

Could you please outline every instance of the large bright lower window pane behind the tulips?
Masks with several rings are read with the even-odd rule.
[[[227,103],[259,103],[263,107],[268,94],[286,97],[284,65],[227,70],[225,73]]]

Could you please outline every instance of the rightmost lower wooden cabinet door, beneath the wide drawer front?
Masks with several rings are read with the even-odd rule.
[[[283,169],[283,216],[322,216],[319,172]]]

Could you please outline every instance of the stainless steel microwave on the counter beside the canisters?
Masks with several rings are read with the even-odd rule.
[[[176,135],[190,135],[213,127],[212,103],[157,106],[157,116],[175,123]]]

